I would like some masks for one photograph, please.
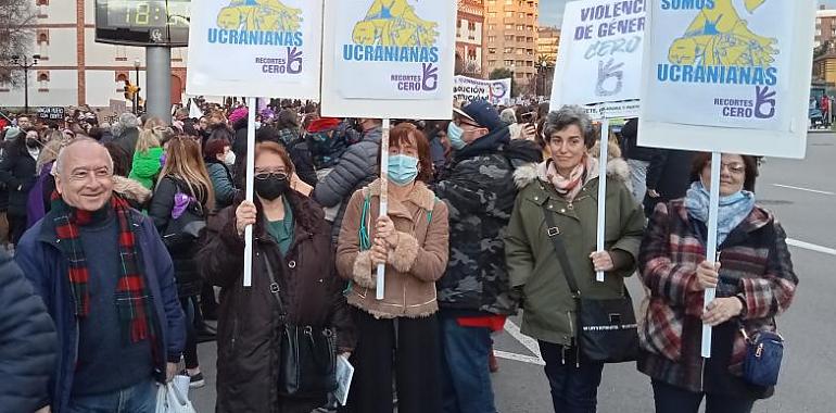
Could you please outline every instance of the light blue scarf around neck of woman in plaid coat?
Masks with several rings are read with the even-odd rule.
[[[685,195],[685,209],[688,216],[708,224],[708,212],[711,195],[701,182],[691,185]],[[720,197],[720,209],[717,224],[717,245],[721,246],[729,234],[743,223],[755,209],[755,193],[742,190],[729,197]]]

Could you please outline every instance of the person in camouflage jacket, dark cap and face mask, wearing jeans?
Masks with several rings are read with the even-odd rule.
[[[433,188],[449,209],[449,261],[436,281],[444,412],[493,413],[491,333],[517,310],[503,243],[517,196],[514,171],[534,167],[542,153],[536,143],[511,142],[508,127],[484,101],[457,111],[448,132],[458,148]]]

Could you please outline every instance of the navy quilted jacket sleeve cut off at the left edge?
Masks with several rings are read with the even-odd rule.
[[[43,301],[0,251],[0,410],[34,412],[49,404],[58,337]]]

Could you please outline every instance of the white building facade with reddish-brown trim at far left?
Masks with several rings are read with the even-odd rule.
[[[38,64],[28,71],[29,107],[107,107],[124,100],[125,80],[137,83],[144,97],[145,53],[140,47],[96,42],[94,0],[33,0],[37,20],[35,45]],[[172,49],[172,102],[186,88],[186,48]],[[14,68],[13,68],[14,70]],[[20,68],[17,68],[20,70]],[[23,86],[0,85],[0,104],[23,107]],[[130,108],[130,104],[128,104]]]

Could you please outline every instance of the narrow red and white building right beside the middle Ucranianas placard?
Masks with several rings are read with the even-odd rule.
[[[456,54],[461,61],[461,73],[471,77],[484,77],[483,72],[483,0],[458,0],[456,17]]]

